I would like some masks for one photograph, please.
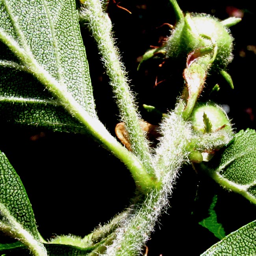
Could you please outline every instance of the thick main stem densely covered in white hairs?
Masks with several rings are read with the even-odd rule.
[[[108,256],[138,255],[154,230],[161,211],[167,207],[178,171],[187,160],[186,147],[191,136],[187,123],[176,114],[179,107],[161,125],[163,137],[154,158],[161,189],[152,189],[146,198],[140,197],[140,201],[133,204],[135,209],[117,230],[117,238],[106,251]]]

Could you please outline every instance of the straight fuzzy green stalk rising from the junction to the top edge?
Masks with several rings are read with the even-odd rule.
[[[80,12],[80,19],[89,22],[89,28],[102,54],[103,63],[117,98],[121,118],[126,124],[132,152],[142,161],[152,180],[156,180],[148,142],[139,126],[140,116],[135,107],[134,96],[130,91],[124,67],[120,62],[118,50],[111,35],[111,21],[108,14],[102,11],[99,0],[87,0]]]

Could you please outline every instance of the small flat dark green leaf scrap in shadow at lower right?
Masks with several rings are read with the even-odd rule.
[[[207,228],[210,232],[214,234],[219,239],[223,239],[225,237],[225,231],[223,226],[218,223],[217,221],[217,214],[214,210],[214,207],[217,202],[217,195],[213,197],[213,200],[211,202],[210,208],[209,208],[209,217],[205,218],[204,220],[200,221],[199,224],[203,227]]]

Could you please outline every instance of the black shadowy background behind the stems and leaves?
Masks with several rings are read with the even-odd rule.
[[[231,28],[235,45],[229,73],[235,89],[230,89],[217,74],[212,74],[202,98],[207,98],[210,88],[218,82],[221,90],[212,99],[230,107],[228,115],[233,119],[234,128],[237,131],[247,127],[255,129],[256,16],[253,1],[244,0],[239,4],[226,0],[207,4],[206,1],[178,2],[183,11],[209,13],[219,19],[228,18],[233,13],[232,7],[243,13],[242,21]],[[184,85],[182,68],[171,61],[160,68],[158,65],[162,59],[148,61],[139,71],[137,66],[139,57],[150,45],[160,46],[159,41],[169,35],[168,26],[158,27],[163,23],[174,24],[174,12],[165,0],[122,0],[119,5],[132,14],[110,0],[108,11],[114,24],[116,43],[132,90],[137,94],[142,117],[157,123],[159,120],[148,115],[142,104],[156,106],[163,112],[172,109]],[[98,116],[114,134],[119,118],[108,77],[104,74],[93,38],[86,29],[82,34]],[[154,87],[156,76],[163,82]],[[0,132],[0,148],[20,175],[32,203],[39,232],[46,239],[56,234],[85,236],[99,223],[106,223],[129,206],[135,189],[129,172],[89,137],[53,133],[42,128],[27,130],[6,124],[2,124]],[[148,242],[148,255],[199,255],[219,241],[197,224],[202,216],[207,215],[207,205],[213,193],[221,195],[216,211],[226,234],[255,219],[254,205],[239,195],[224,191],[190,167],[184,167],[170,199],[171,207],[161,216]],[[202,199],[195,203],[197,195]]]

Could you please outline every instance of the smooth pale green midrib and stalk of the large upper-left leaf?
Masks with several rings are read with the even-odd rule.
[[[61,84],[61,81],[56,80],[35,60],[32,52],[29,49],[24,50],[17,42],[3,30],[0,29],[0,38],[13,51],[13,53],[26,65],[30,73],[35,76],[46,88],[56,95],[67,111],[78,119],[87,128],[88,132],[95,139],[100,141],[100,144],[107,148],[113,155],[121,160],[132,173],[135,184],[143,193],[147,193],[148,188],[156,186],[156,180],[152,179],[144,167],[141,160],[134,154],[123,147],[106,129],[106,127],[97,118],[92,117],[85,109],[77,102],[66,86]],[[29,52],[28,52],[29,51]]]

